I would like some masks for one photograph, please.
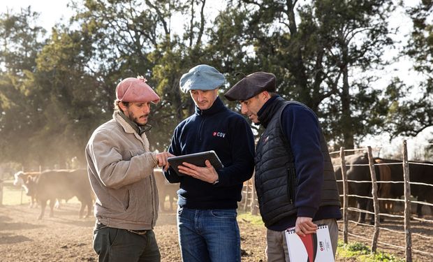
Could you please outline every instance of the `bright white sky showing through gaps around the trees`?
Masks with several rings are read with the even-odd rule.
[[[41,13],[41,25],[45,27],[47,32],[50,32],[51,27],[53,27],[56,22],[59,22],[61,19],[67,20],[68,17],[73,15],[73,11],[67,7],[69,1],[70,0],[10,0],[6,4],[4,4],[5,1],[3,1],[0,6],[0,12],[6,13],[6,10],[13,9],[14,12],[17,13],[20,8],[31,6],[32,10]],[[404,3],[406,6],[415,6],[419,1],[420,0],[405,0]],[[218,8],[217,6],[212,6],[212,1],[209,3],[211,4],[211,7],[208,8]],[[215,2],[213,1],[213,3]],[[172,22],[172,27],[180,26],[181,24],[182,23]],[[406,35],[409,34],[409,30],[411,29],[411,20],[409,17],[406,17],[404,10],[397,11],[393,19],[390,20],[390,25],[393,27],[399,27],[398,34],[394,36],[395,39],[402,41],[402,43],[406,43]],[[172,29],[175,30],[175,28]],[[384,53],[384,56],[392,57],[397,54],[398,51],[399,50],[389,50]],[[404,81],[408,85],[416,85],[416,81],[420,79],[416,73],[411,72],[411,63],[408,60],[402,60],[399,63],[388,66],[388,68],[383,72],[380,72],[380,74],[383,77],[376,83],[376,85],[383,87],[386,87],[390,77],[396,74],[399,75],[400,78],[404,78]],[[416,146],[416,144],[424,145],[427,143],[426,137],[432,137],[432,132],[433,126],[423,131],[416,138],[407,139],[411,140],[409,144],[412,144],[413,146]],[[365,138],[363,145],[383,146],[382,152],[392,152],[395,150],[397,145],[402,143],[402,139],[403,138],[398,138],[394,143],[389,143],[389,137],[387,136],[367,137]]]

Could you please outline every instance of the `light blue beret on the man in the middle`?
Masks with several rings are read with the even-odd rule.
[[[186,93],[189,90],[213,90],[221,87],[226,78],[222,73],[212,66],[200,64],[194,66],[188,73],[184,73],[180,78],[179,85],[182,92]]]

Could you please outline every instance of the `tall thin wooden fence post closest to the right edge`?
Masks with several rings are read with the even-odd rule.
[[[409,162],[407,160],[407,142],[403,140],[403,177],[404,177],[404,232],[406,233],[406,261],[412,261],[411,235],[411,184],[409,177]]]

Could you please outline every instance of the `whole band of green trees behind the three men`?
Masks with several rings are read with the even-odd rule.
[[[380,76],[369,73],[392,62],[382,54],[393,47],[388,17],[395,1],[225,1],[212,10],[215,19],[209,5],[73,1],[71,21],[48,37],[31,8],[0,14],[2,161],[52,168],[78,159],[84,166],[89,136],[111,118],[117,83],[136,75],[161,96],[148,136],[152,150],[166,150],[175,126],[193,112],[179,78],[197,64],[224,73],[221,98],[236,73],[274,73],[277,92],[312,108],[335,147],[383,131],[414,136],[433,125],[431,78],[410,101],[413,91],[401,80],[381,90],[374,84]],[[405,54],[423,75],[432,73],[431,8],[423,1],[409,11],[415,27]],[[173,23],[182,29],[173,31]],[[239,111],[238,103],[228,106]]]

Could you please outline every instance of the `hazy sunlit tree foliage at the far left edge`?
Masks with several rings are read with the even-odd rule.
[[[34,159],[29,138],[42,124],[34,72],[45,43],[45,30],[36,26],[37,18],[30,8],[0,14],[0,157],[4,162]]]

